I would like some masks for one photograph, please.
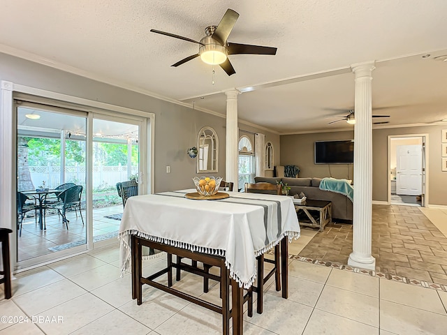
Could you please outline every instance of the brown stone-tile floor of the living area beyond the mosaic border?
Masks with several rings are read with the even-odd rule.
[[[442,213],[439,209],[374,204],[372,255],[376,271],[447,285],[447,229],[443,228],[447,214]],[[333,223],[316,234],[299,255],[346,265],[351,251],[352,225]]]

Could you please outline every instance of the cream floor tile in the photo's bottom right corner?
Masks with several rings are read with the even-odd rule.
[[[381,300],[380,306],[380,328],[383,330],[404,335],[446,334],[447,316],[386,300]]]

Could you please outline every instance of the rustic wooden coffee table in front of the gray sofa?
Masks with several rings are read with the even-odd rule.
[[[319,228],[321,232],[324,230],[325,225],[332,222],[332,202],[327,200],[307,199],[302,204],[295,204],[295,210],[297,215],[300,214],[300,211],[304,212],[309,219],[309,221],[299,220],[300,225]],[[316,215],[314,213],[315,211],[318,212]]]

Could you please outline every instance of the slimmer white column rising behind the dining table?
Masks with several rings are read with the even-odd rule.
[[[232,89],[226,91],[226,152],[225,152],[225,181],[233,182],[234,190],[237,191],[238,172],[237,162],[239,151],[237,142],[239,140],[239,130],[237,128],[237,95],[240,91]]]

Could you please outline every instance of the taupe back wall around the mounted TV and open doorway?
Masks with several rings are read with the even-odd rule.
[[[372,132],[372,199],[388,201],[388,135],[427,133],[429,203],[447,205],[447,172],[441,171],[441,130],[447,126],[383,128]],[[300,177],[353,178],[353,165],[314,164],[314,142],[353,139],[353,131],[281,136],[281,165],[300,167]],[[329,172],[330,168],[330,172]]]

